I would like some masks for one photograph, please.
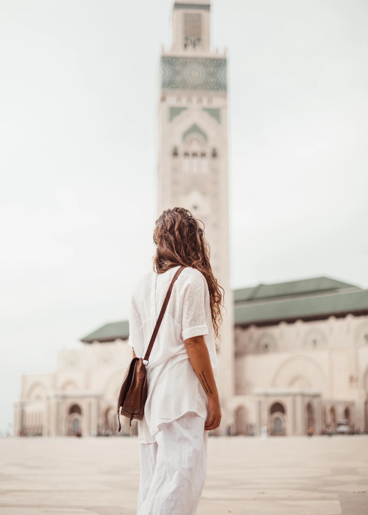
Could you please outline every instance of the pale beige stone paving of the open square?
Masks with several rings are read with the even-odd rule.
[[[0,439],[0,515],[133,515],[137,438]],[[209,439],[197,515],[367,515],[368,436]]]

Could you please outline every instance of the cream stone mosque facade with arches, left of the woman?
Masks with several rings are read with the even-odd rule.
[[[115,434],[116,397],[126,364],[127,340],[62,350],[53,374],[23,375],[14,405],[14,435]],[[118,365],[116,365],[118,364]],[[136,421],[122,417],[122,435],[136,434]]]

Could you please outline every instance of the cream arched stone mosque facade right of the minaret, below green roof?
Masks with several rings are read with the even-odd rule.
[[[368,316],[236,329],[236,396],[234,419],[242,408],[241,432],[275,433],[272,406],[285,434],[338,430],[366,431],[368,396]],[[239,425],[239,424],[238,424]],[[238,427],[239,431],[239,427]]]

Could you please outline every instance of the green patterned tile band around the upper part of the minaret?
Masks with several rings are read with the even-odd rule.
[[[162,56],[161,87],[226,92],[226,59]]]

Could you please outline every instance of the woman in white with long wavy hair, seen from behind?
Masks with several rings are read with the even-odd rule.
[[[189,211],[156,221],[154,271],[133,291],[129,344],[144,355],[175,272],[168,307],[147,365],[148,396],[138,422],[138,515],[194,515],[207,472],[207,433],[220,425],[215,383],[222,295],[209,247]]]

